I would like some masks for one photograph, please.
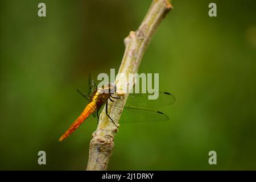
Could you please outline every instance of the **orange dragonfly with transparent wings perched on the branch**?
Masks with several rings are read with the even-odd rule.
[[[93,117],[99,119],[98,113],[102,110],[104,105],[106,105],[105,112],[107,117],[117,126],[108,112],[109,102],[114,102],[114,100],[125,99],[127,97],[126,104],[122,107],[121,118],[119,119],[121,123],[167,121],[169,117],[166,114],[154,109],[171,105],[176,100],[175,97],[168,92],[159,92],[159,97],[156,100],[148,100],[148,96],[151,95],[150,93],[117,93],[117,87],[113,83],[107,83],[97,88],[96,82],[90,74],[88,83],[88,94],[81,92],[79,89],[77,89],[77,91],[85,97],[89,103],[75,122],[73,122],[68,130],[59,138],[60,142],[69,137],[89,115],[92,114]],[[121,108],[112,105],[111,110],[114,109],[120,110]]]

